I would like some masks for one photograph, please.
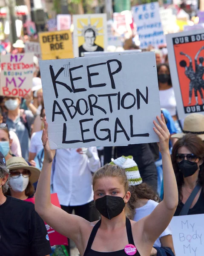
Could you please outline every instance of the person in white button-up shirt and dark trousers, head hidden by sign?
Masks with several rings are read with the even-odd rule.
[[[90,220],[92,173],[101,166],[96,147],[57,149],[52,166],[52,189],[63,210]],[[95,219],[96,221],[96,219]]]

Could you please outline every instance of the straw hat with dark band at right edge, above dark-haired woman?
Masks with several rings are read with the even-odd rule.
[[[173,134],[171,138],[181,138],[185,134],[195,134],[204,140],[204,115],[193,113],[184,119],[184,129],[180,134]]]

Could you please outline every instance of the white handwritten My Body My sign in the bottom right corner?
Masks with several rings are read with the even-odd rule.
[[[170,223],[175,255],[201,256],[204,252],[204,214],[175,216]]]

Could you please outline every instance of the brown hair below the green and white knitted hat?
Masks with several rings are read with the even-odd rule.
[[[131,220],[134,219],[136,202],[138,199],[148,199],[159,202],[158,195],[147,183],[141,183],[136,186],[129,186],[129,192],[131,193],[130,200],[128,201],[129,209],[131,212]]]

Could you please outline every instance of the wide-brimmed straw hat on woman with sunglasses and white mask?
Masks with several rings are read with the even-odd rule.
[[[40,177],[40,170],[29,166],[26,160],[23,157],[11,157],[9,160],[6,161],[6,167],[9,171],[18,170],[18,169],[25,169],[31,172],[31,176],[29,177],[30,183],[35,183]]]

